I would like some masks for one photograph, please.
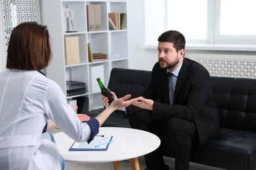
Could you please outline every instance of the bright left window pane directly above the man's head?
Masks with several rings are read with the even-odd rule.
[[[191,41],[207,41],[207,1],[167,1],[167,29],[180,31]]]

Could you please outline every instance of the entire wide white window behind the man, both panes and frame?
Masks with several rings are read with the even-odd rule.
[[[158,36],[171,29],[183,33],[187,42],[256,42],[255,0],[160,2],[145,1],[146,44],[156,44]]]

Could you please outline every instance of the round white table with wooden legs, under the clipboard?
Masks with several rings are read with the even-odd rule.
[[[74,140],[65,133],[55,133],[54,139],[60,154],[65,160],[89,163],[114,162],[119,169],[118,161],[131,161],[132,169],[139,169],[139,156],[148,154],[158,146],[160,139],[147,131],[124,127],[100,127],[98,135],[113,136],[106,151],[68,151]]]

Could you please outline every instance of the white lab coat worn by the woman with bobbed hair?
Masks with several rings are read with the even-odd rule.
[[[53,80],[37,71],[0,73],[1,170],[60,169],[56,144],[40,139],[48,118],[75,141],[91,137]]]

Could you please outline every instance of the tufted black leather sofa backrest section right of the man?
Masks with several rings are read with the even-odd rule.
[[[211,76],[221,127],[256,131],[256,79]]]

